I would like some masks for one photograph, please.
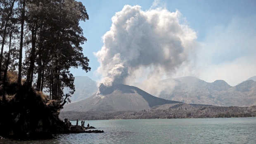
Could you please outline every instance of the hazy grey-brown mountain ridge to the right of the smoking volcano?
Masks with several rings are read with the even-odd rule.
[[[215,106],[256,105],[256,82],[254,80],[244,81],[234,87],[228,85],[224,80],[207,83],[198,78],[186,77],[177,78],[174,81],[176,85],[173,91],[162,91],[159,97],[187,104],[209,104]]]

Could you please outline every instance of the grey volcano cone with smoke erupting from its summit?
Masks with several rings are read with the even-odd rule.
[[[182,103],[154,97],[137,87],[115,85],[110,94],[94,94],[88,99],[64,105],[62,111],[141,111],[156,105]]]

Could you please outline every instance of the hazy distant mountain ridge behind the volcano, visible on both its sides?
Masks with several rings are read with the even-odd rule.
[[[91,79],[88,79],[88,82],[83,77],[78,76],[75,76],[75,78],[76,91],[71,97],[72,103],[86,99],[98,91],[97,82]],[[251,77],[248,80],[253,78]],[[80,80],[80,82],[76,82],[77,80]],[[187,104],[209,104],[216,106],[256,105],[256,87],[254,81],[244,81],[232,87],[224,80],[215,80],[213,83],[208,83],[199,78],[188,76],[161,80],[161,83],[168,83],[168,81],[175,83],[175,87],[173,90],[168,88],[167,90],[161,91],[158,96],[159,98]],[[88,83],[90,87],[83,83]]]

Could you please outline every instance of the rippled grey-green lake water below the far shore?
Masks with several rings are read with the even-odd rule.
[[[75,121],[71,122],[73,125]],[[104,133],[56,135],[54,139],[3,144],[256,144],[256,118],[88,120]],[[78,122],[81,125],[81,121]]]

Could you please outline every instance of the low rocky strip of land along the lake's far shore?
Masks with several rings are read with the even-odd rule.
[[[61,111],[60,119],[69,120],[109,120],[109,119],[166,119],[166,118],[239,118],[256,117],[256,106],[210,106],[196,104],[168,104],[155,106],[141,111],[93,111],[75,112]]]

